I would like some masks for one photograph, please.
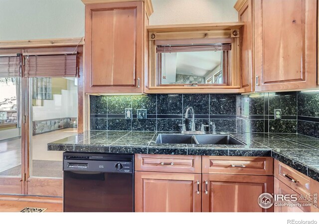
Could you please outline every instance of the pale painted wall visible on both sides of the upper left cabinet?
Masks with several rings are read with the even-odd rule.
[[[237,21],[236,0],[152,0],[150,25]],[[81,0],[0,0],[0,40],[84,36]]]

